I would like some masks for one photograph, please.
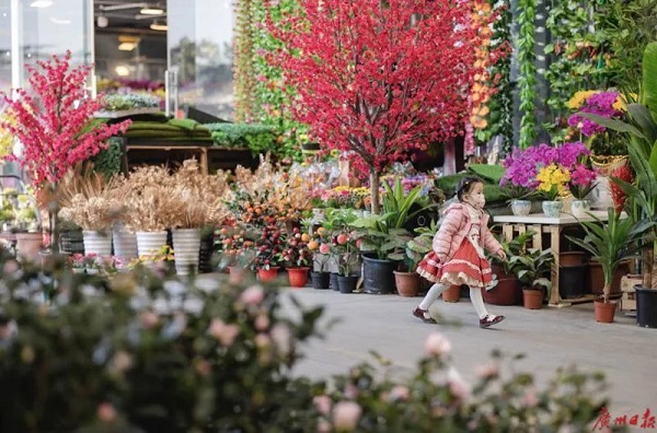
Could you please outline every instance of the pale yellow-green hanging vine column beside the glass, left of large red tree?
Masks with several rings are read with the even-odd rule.
[[[261,0],[235,1],[233,82],[235,97],[235,121],[253,120],[256,110],[254,97],[255,73],[253,68],[255,21],[252,3]]]

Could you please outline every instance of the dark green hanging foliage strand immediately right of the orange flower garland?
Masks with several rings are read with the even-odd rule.
[[[508,51],[511,40],[511,10],[508,0],[491,0],[493,13],[497,16],[493,23],[491,50]],[[475,138],[486,143],[494,137],[502,138],[502,154],[514,148],[514,95],[511,89],[511,56],[500,56],[488,69],[488,85],[495,89],[488,102],[489,112],[485,116],[486,125],[475,129]]]

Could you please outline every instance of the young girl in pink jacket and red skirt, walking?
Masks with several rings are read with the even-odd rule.
[[[494,285],[484,248],[503,260],[506,260],[506,254],[487,227],[483,182],[474,176],[463,177],[457,187],[457,198],[459,201],[443,212],[433,250],[417,265],[417,273],[434,285],[413,315],[427,324],[436,324],[429,314],[431,304],[450,285],[466,284],[480,327],[487,328],[504,320],[504,316],[488,314],[484,305],[482,290]]]

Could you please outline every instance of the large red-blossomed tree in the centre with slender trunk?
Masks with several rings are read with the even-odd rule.
[[[379,175],[391,162],[462,130],[488,19],[475,12],[477,1],[299,3],[302,14],[272,11],[268,28],[286,48],[270,61],[298,92],[297,120],[369,174],[378,213]]]

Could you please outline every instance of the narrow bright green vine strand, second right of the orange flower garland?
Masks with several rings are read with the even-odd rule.
[[[534,98],[537,96],[537,66],[534,55],[534,20],[537,0],[518,0],[518,97],[520,100],[520,133],[518,145],[521,149],[533,144],[537,138]]]

